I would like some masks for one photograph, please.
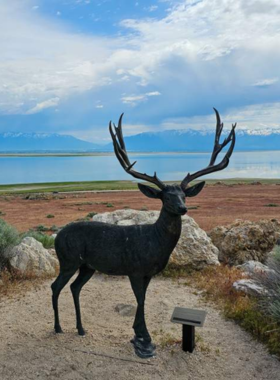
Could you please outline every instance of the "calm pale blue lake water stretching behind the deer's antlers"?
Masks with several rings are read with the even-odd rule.
[[[135,170],[162,180],[182,180],[208,165],[210,153],[130,154]],[[235,152],[229,166],[205,178],[280,178],[280,151]],[[0,157],[0,183],[131,180],[114,155]]]

